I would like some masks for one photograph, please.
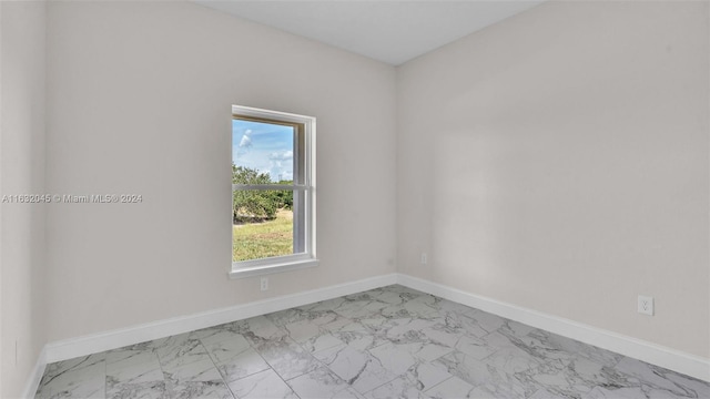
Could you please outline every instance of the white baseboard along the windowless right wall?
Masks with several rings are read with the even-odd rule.
[[[710,359],[707,358],[591,327],[566,318],[469,294],[460,289],[404,274],[397,275],[397,283],[405,287],[436,295],[462,305],[470,306],[710,382]]]

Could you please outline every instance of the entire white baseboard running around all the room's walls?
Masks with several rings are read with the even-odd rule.
[[[129,328],[50,342],[42,350],[31,379],[28,382],[26,392],[30,393],[28,393],[27,397],[31,398],[37,390],[47,364],[241,320],[392,284],[400,284],[599,348],[710,381],[710,359],[587,326],[561,317],[474,295],[420,278],[403,274],[389,274],[195,315],[174,317]]]

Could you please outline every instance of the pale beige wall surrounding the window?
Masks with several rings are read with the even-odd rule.
[[[183,2],[51,2],[49,340],[395,270],[395,69]],[[316,268],[227,279],[231,105],[317,117]]]

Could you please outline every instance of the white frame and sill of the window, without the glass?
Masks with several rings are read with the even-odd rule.
[[[296,133],[301,136],[297,140],[298,145],[294,145],[294,157],[303,157],[303,162],[298,162],[298,164],[304,168],[303,182],[296,183],[294,180],[294,184],[292,185],[232,184],[232,196],[234,196],[235,190],[292,190],[294,192],[303,192],[305,194],[305,201],[302,201],[303,204],[297,204],[294,196],[294,245],[296,245],[298,239],[302,239],[303,243],[301,245],[304,247],[304,250],[293,255],[233,262],[230,269],[230,277],[244,278],[317,266],[318,259],[316,258],[315,252],[315,117],[232,105],[232,119],[254,119],[257,121],[273,121],[303,126],[303,131]],[[301,143],[301,141],[303,142]],[[295,173],[296,171],[294,171],[294,174]],[[232,204],[232,201],[230,201],[230,204]],[[230,209],[230,215],[232,212],[233,211]],[[232,217],[230,217],[230,223],[232,223]],[[304,224],[302,237],[295,233],[301,231],[301,228],[296,226],[297,223]]]

